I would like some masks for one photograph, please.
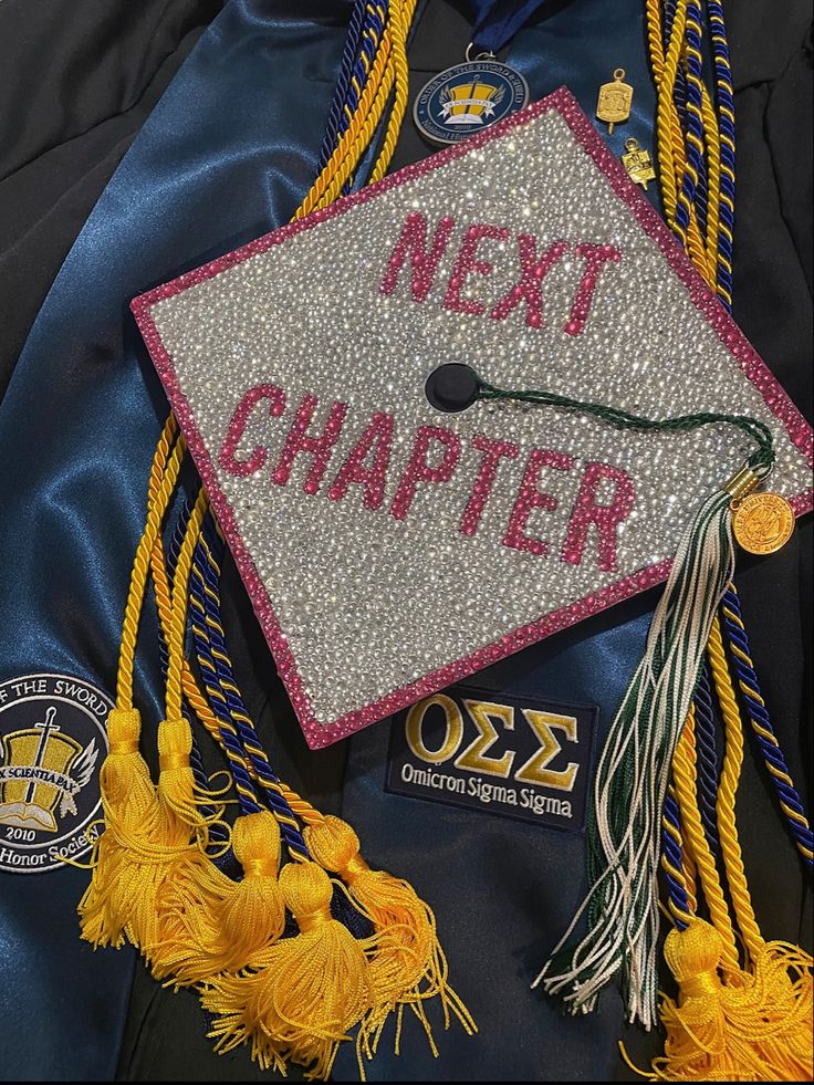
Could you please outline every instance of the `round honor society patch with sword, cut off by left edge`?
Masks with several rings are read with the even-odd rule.
[[[0,684],[1,870],[53,870],[91,848],[112,708],[95,686],[64,675]]]

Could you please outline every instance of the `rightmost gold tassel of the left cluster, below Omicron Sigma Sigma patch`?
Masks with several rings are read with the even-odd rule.
[[[468,1033],[476,1032],[469,1011],[447,982],[447,960],[438,941],[435,916],[413,886],[385,870],[372,870],[359,855],[356,833],[338,817],[326,815],[309,825],[304,836],[313,858],[343,878],[354,904],[376,930],[371,953],[374,1008],[366,1022],[371,1051],[376,1051],[389,1014],[410,1005],[437,1054],[422,1006],[424,1001],[436,995],[443,1006],[445,1029],[449,1027],[451,1011]]]

